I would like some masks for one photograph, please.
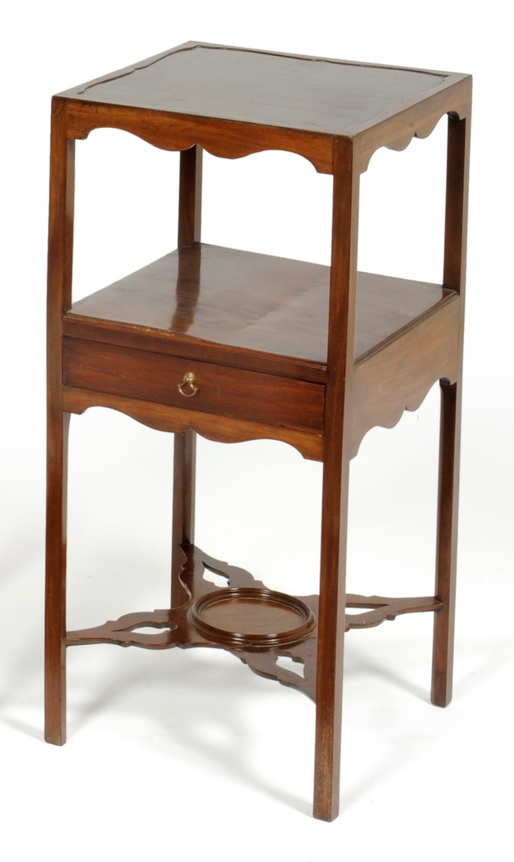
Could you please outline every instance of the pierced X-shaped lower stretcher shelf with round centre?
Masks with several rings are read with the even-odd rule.
[[[318,596],[294,597],[268,590],[261,581],[235,566],[184,548],[180,579],[189,596],[180,607],[126,614],[95,628],[68,632],[67,647],[114,643],[121,647],[226,649],[262,677],[303,691],[315,700],[318,640]],[[226,578],[216,586],[204,578],[214,572]],[[386,598],[347,594],[345,629],[371,628],[399,614],[438,610],[434,597]],[[155,634],[141,631],[156,629]],[[282,657],[299,665],[298,672],[279,664]]]

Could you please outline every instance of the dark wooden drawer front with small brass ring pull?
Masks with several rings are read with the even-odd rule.
[[[279,428],[323,433],[325,386],[274,374],[130,350],[97,341],[64,339],[64,382],[143,401],[199,410]],[[195,375],[197,391],[184,376]]]

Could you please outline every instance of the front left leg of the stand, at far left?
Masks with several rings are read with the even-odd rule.
[[[63,411],[63,315],[71,306],[75,141],[65,101],[52,103],[47,293],[45,739],[66,736],[66,468],[70,414]]]

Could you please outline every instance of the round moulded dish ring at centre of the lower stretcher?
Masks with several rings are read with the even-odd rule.
[[[299,598],[257,587],[207,593],[189,608],[188,618],[205,637],[232,647],[293,643],[316,625]]]

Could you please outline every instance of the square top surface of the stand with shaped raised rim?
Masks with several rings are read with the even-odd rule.
[[[59,95],[352,135],[465,77],[186,42]]]

